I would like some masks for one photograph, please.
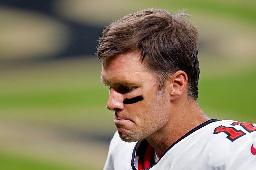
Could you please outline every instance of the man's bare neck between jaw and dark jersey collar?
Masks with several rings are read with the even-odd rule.
[[[169,123],[146,138],[148,143],[155,148],[158,158],[161,158],[180,137],[209,120],[196,100],[187,100],[182,104],[174,102],[173,106],[176,106],[176,109],[173,107]]]

